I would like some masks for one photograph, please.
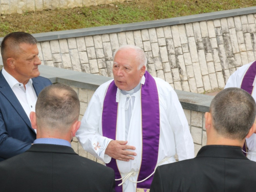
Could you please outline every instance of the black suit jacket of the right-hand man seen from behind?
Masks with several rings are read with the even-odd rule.
[[[194,159],[156,169],[150,192],[163,191],[256,191],[256,162],[238,146],[203,146]]]

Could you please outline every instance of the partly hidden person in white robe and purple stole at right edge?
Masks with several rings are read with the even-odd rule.
[[[256,101],[256,90],[254,89],[256,82],[256,61],[240,67],[235,71],[227,81],[226,88],[241,88],[247,91]],[[256,134],[252,134],[250,138],[246,138],[243,147],[243,153],[252,161],[256,161]]]

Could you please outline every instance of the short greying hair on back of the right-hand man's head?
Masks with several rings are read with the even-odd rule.
[[[210,113],[218,134],[229,139],[243,140],[254,123],[256,104],[246,91],[227,88],[212,99]]]

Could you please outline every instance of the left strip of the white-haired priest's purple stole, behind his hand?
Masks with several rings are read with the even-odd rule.
[[[113,140],[116,140],[116,121],[118,109],[118,103],[116,102],[116,92],[117,87],[115,85],[115,81],[113,80],[109,85],[108,91],[106,92],[102,111],[102,135]],[[112,158],[109,163],[106,163],[106,166],[114,169],[115,179],[121,178],[116,160],[114,158]],[[121,182],[122,180],[116,181],[116,192],[123,191],[123,187],[118,186]]]

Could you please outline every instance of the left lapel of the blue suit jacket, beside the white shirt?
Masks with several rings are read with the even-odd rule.
[[[6,97],[6,99],[9,100],[9,102],[12,104],[13,108],[18,112],[19,116],[22,117],[23,120],[26,122],[26,124],[32,129],[31,122],[30,122],[27,114],[25,113],[22,105],[19,103],[17,97],[15,96],[12,89],[10,88],[5,77],[3,76],[2,70],[0,71],[0,92]],[[34,130],[33,130],[33,132],[34,132]]]

